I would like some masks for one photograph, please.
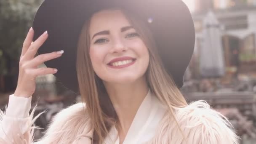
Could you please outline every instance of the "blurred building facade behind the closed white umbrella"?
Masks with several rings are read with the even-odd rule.
[[[256,0],[195,0],[195,59],[200,57],[201,43],[206,38],[203,19],[209,11],[220,24],[225,67],[256,71]]]

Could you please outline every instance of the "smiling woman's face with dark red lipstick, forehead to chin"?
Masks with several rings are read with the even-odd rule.
[[[144,76],[149,52],[139,34],[120,10],[104,10],[92,16],[90,58],[101,80],[132,83]]]

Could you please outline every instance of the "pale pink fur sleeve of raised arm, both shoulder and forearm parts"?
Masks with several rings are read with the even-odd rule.
[[[33,139],[34,129],[37,128],[34,122],[41,113],[33,118],[35,108],[29,117],[22,120],[10,117],[11,122],[0,111],[1,124],[4,124],[4,120],[12,128],[9,133],[4,133],[5,138],[0,138],[0,144],[91,144],[91,122],[82,103],[61,110],[53,118],[43,138],[37,142]]]

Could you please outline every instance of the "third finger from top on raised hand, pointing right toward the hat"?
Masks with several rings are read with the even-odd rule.
[[[49,61],[51,59],[56,59],[60,57],[62,53],[64,53],[64,51],[57,51],[57,52],[55,51],[52,53],[40,54],[36,56],[34,59],[32,59],[31,61],[29,61],[27,63],[27,67],[36,68],[40,64],[43,64],[45,61]]]

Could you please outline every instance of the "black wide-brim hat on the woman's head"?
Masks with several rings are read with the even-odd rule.
[[[44,0],[33,21],[34,40],[47,30],[48,39],[38,54],[64,50],[60,58],[45,62],[58,69],[57,80],[79,92],[76,53],[81,28],[93,13],[113,7],[132,11],[149,23],[164,67],[181,88],[195,44],[192,16],[181,0]]]

